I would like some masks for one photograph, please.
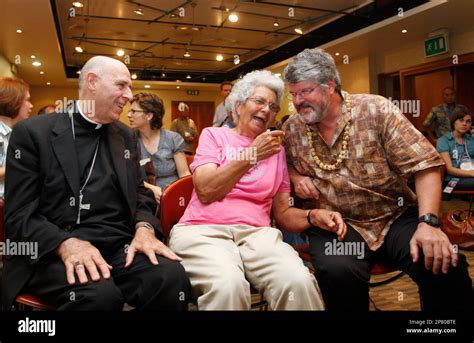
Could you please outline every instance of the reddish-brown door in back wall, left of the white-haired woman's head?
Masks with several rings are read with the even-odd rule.
[[[184,102],[189,106],[189,118],[194,120],[198,133],[209,126],[212,126],[212,119],[214,118],[215,105],[212,101],[185,101],[177,100],[171,101],[171,120],[179,117],[178,105]],[[194,142],[194,151],[196,151],[198,140]]]

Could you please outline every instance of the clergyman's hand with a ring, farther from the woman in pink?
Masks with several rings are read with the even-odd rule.
[[[66,267],[67,281],[70,285],[76,282],[75,274],[81,284],[88,282],[86,270],[92,281],[100,280],[100,273],[105,279],[110,278],[110,266],[102,257],[99,250],[87,241],[69,238],[56,249],[56,254]]]

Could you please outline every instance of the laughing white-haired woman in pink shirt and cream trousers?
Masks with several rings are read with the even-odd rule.
[[[283,132],[267,130],[282,93],[283,82],[269,71],[249,73],[228,98],[237,126],[201,133],[191,164],[194,191],[170,235],[199,309],[248,310],[250,284],[274,310],[323,309],[315,278],[270,226],[270,211],[294,232],[311,222],[342,238],[346,226],[336,212],[289,206]]]

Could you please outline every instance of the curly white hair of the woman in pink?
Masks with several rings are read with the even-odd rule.
[[[285,84],[278,76],[268,70],[255,70],[246,74],[232,88],[232,92],[226,99],[227,111],[232,111],[237,118],[237,103],[244,103],[254,92],[256,87],[267,87],[275,92],[276,104],[280,105]]]

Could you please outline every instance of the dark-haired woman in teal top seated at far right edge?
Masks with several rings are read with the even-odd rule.
[[[452,132],[438,139],[436,149],[446,163],[446,181],[459,178],[456,190],[474,189],[474,138],[472,115],[459,111],[450,118]]]

